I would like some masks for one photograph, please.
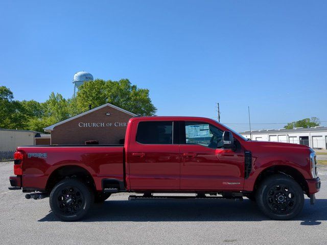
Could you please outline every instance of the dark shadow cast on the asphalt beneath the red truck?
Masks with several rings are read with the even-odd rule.
[[[320,225],[327,220],[327,199],[317,199],[315,205],[305,200],[302,212],[293,220],[301,225]],[[89,210],[81,222],[200,222],[270,220],[258,210],[254,202],[235,200],[166,200],[166,201],[116,201],[107,200]],[[39,222],[57,222],[50,211]]]

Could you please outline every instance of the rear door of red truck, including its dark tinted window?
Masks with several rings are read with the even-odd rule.
[[[173,143],[173,121],[135,123],[137,126],[131,134],[136,138],[130,139],[127,153],[130,189],[179,189],[180,155],[179,145]]]

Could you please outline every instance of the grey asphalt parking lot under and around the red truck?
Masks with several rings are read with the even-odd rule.
[[[326,244],[327,167],[319,167],[316,204],[293,220],[270,220],[244,199],[128,201],[112,195],[88,216],[60,222],[49,199],[9,191],[12,162],[0,162],[0,244]]]

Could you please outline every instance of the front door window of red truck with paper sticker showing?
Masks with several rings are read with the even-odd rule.
[[[201,144],[209,148],[221,148],[223,131],[206,122],[185,121],[186,144]]]

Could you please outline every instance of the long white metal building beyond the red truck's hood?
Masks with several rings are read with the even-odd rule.
[[[327,127],[294,129],[268,129],[241,132],[244,137],[258,141],[287,142],[305,144],[313,149],[327,149]]]

